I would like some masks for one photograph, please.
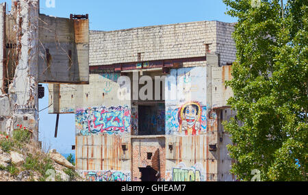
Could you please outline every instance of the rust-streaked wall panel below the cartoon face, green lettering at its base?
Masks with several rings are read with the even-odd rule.
[[[166,181],[207,181],[206,151],[207,135],[166,136]]]

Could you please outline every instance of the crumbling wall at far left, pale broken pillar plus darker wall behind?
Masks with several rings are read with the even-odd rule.
[[[12,50],[15,53],[14,55],[5,53],[5,57],[1,57],[5,58],[5,63],[1,60],[2,81],[5,80],[3,70],[5,68],[8,70],[6,64],[8,61],[11,61],[8,64],[14,64],[15,70],[12,81],[7,86],[8,92],[5,91],[6,83],[1,82],[0,118],[4,120],[0,123],[0,131],[12,133],[12,129],[16,129],[17,125],[23,125],[33,132],[34,140],[38,140],[38,98],[36,96],[38,90],[38,9],[36,0],[12,2],[11,19],[16,21],[12,31],[16,34],[12,42],[16,42],[16,45],[12,44],[11,47],[14,48]],[[3,4],[1,10],[3,10]],[[1,12],[1,18],[4,18],[3,12]],[[3,37],[3,33],[6,33],[3,25],[1,32],[1,37]],[[1,53],[2,51],[3,49]],[[12,56],[14,59],[10,59]]]

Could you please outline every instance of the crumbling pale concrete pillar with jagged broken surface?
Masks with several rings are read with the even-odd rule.
[[[9,88],[13,117],[10,129],[21,124],[33,131],[35,141],[38,141],[38,1],[12,1],[18,59]]]

